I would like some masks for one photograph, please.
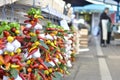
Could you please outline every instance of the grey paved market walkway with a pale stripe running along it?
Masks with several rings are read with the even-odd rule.
[[[120,80],[120,45],[114,41],[101,48],[95,38],[89,49],[77,55],[71,74],[64,80]]]

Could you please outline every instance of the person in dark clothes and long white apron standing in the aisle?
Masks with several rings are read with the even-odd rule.
[[[107,43],[110,43],[110,34],[108,31],[108,23],[111,23],[110,17],[107,15],[109,13],[109,8],[105,8],[104,12],[100,16],[100,31],[101,31],[101,46],[106,46]]]

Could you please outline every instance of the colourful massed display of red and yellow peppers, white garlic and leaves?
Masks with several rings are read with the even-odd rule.
[[[73,33],[51,22],[43,27],[40,9],[24,16],[24,25],[0,23],[0,78],[57,80],[68,74],[75,55]]]

